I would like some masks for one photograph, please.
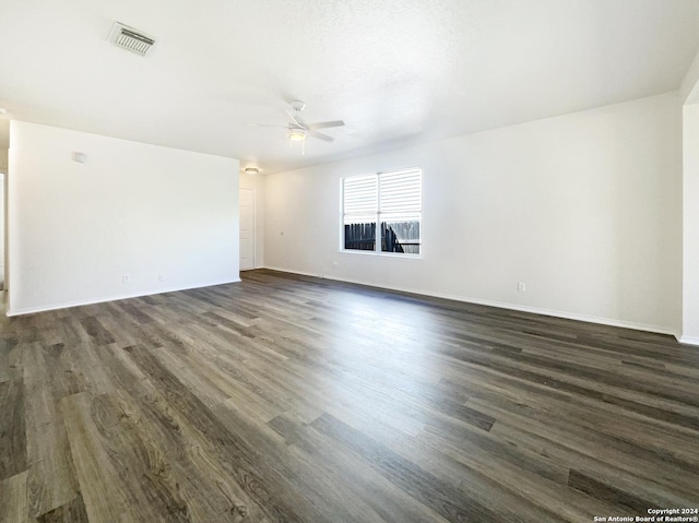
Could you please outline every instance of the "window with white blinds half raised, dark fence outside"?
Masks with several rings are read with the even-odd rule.
[[[422,186],[419,169],[345,178],[342,185],[344,249],[419,254]]]

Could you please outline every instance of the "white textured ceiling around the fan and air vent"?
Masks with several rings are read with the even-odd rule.
[[[0,0],[0,107],[273,173],[673,91],[698,45],[696,0]],[[335,142],[247,126],[294,98]]]

